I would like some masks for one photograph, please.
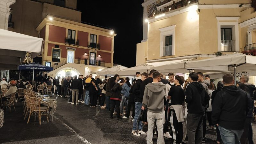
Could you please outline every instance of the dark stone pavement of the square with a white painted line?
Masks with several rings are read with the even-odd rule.
[[[0,128],[0,143],[101,143],[101,144],[142,144],[146,135],[133,136],[132,119],[109,119],[109,112],[100,107],[90,108],[84,104],[71,105],[68,98],[58,98],[57,111],[53,122],[46,122],[45,116],[41,125],[34,121],[23,121],[23,103],[15,103],[16,111],[4,113],[5,123]],[[147,131],[147,126],[143,130]],[[253,124],[253,138],[256,141],[256,124]],[[205,143],[213,144],[216,140],[215,130],[208,130]],[[153,140],[156,143],[157,137]],[[186,141],[187,142],[187,141]],[[165,138],[165,143],[171,143]]]

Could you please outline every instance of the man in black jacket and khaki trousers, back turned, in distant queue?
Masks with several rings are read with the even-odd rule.
[[[75,103],[75,96],[76,96],[76,105],[78,105],[78,94],[79,94],[79,88],[80,88],[80,81],[77,79],[77,76],[74,76],[74,79],[71,82],[70,88],[72,90],[72,103],[71,105],[74,105]]]

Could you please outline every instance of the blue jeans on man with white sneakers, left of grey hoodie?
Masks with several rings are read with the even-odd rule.
[[[133,128],[132,128],[132,130],[134,130],[134,131],[137,130],[137,121],[139,121],[139,123],[138,123],[139,131],[141,131],[143,128],[142,122],[140,121],[141,107],[142,107],[142,102],[138,102],[138,101],[135,102],[135,116],[133,119]]]

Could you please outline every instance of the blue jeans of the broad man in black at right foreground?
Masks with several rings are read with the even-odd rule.
[[[240,144],[240,138],[244,132],[244,129],[242,130],[229,130],[225,129],[224,127],[218,126],[220,130],[220,135],[223,143],[225,144]]]

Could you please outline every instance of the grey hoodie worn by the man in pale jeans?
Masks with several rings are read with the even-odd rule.
[[[152,113],[163,112],[165,95],[166,88],[162,82],[147,84],[142,101],[143,107]]]

